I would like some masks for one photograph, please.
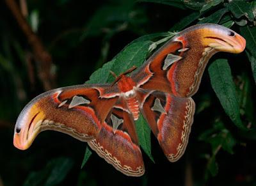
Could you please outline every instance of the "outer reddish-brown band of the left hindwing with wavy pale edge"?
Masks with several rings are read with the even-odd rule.
[[[88,143],[97,154],[127,176],[144,174],[144,164],[140,148],[122,132],[113,134],[113,129],[106,123],[102,125],[96,139]]]

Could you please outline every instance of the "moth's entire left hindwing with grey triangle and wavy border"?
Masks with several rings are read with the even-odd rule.
[[[144,174],[134,119],[120,97],[95,139],[88,144],[98,155],[127,176]]]

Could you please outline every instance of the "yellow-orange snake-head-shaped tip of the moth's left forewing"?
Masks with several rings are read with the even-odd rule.
[[[29,103],[20,113],[17,119],[13,144],[20,150],[26,150],[31,146],[35,137],[40,133],[44,113],[38,109],[36,103]]]

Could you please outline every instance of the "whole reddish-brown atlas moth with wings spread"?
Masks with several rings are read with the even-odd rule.
[[[13,144],[31,146],[44,130],[56,130],[87,142],[92,150],[128,176],[145,172],[134,121],[140,114],[164,155],[175,162],[183,155],[195,113],[191,98],[198,91],[207,62],[216,52],[239,53],[246,41],[217,24],[198,24],[180,31],[136,71],[115,75],[112,84],[76,85],[38,95],[17,119]]]

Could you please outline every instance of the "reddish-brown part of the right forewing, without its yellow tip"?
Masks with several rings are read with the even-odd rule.
[[[205,47],[199,31],[184,33],[157,50],[132,78],[143,89],[191,97],[198,89],[209,58],[216,52],[204,52]]]

